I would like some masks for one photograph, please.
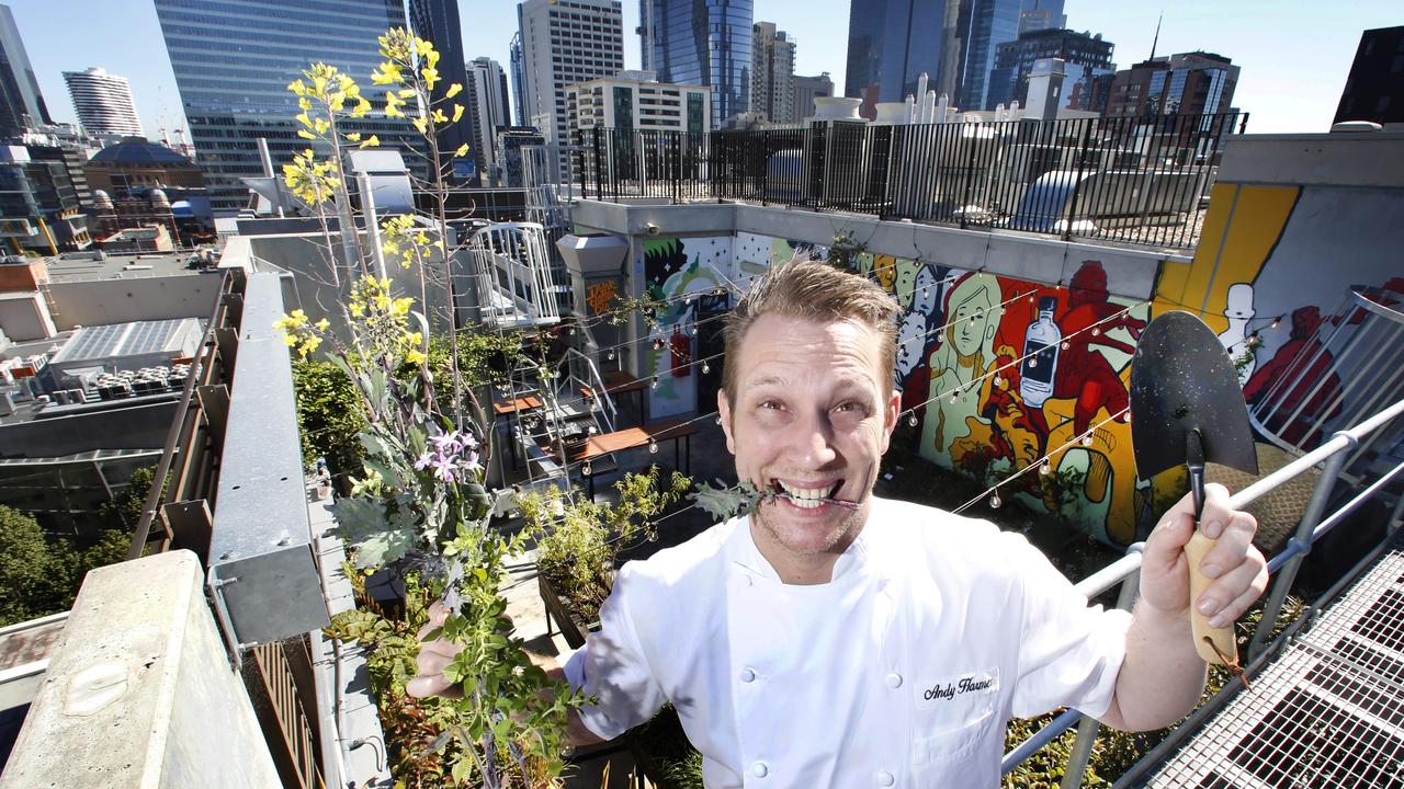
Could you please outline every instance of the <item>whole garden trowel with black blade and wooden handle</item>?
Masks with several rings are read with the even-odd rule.
[[[1213,460],[1244,473],[1258,473],[1258,453],[1248,425],[1248,407],[1233,361],[1219,337],[1186,312],[1164,313],[1146,327],[1132,358],[1132,448],[1136,473],[1150,477],[1185,465],[1195,503],[1195,533],[1185,545],[1189,599],[1209,587],[1199,570],[1216,541],[1199,531],[1205,508],[1205,463]],[[1237,668],[1233,625],[1210,628],[1191,605],[1195,649],[1206,663]]]

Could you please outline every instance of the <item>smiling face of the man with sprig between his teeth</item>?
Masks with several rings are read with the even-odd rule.
[[[897,424],[899,394],[886,383],[892,371],[879,333],[851,320],[762,314],[734,362],[736,403],[722,393],[717,406],[736,473],[800,500],[772,500],[757,510],[757,545],[797,560],[837,557],[868,519],[879,462]]]

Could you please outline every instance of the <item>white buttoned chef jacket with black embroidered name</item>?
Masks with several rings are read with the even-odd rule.
[[[880,498],[827,584],[781,583],[739,517],[625,564],[600,619],[583,723],[671,702],[709,789],[997,786],[1011,716],[1106,712],[1130,623],[1022,535]]]

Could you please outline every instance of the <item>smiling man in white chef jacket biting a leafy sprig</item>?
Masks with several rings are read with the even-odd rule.
[[[709,788],[990,788],[1012,716],[1073,706],[1141,730],[1193,706],[1188,606],[1231,622],[1262,594],[1252,517],[1212,486],[1214,583],[1191,601],[1193,521],[1177,505],[1127,614],[1088,606],[1019,535],[876,498],[897,317],[876,285],[820,263],[776,267],[741,299],[722,425],[737,476],[788,497],[621,569],[600,632],[564,664],[598,699],[573,740],[671,702]],[[446,660],[428,644],[410,691],[442,691]]]

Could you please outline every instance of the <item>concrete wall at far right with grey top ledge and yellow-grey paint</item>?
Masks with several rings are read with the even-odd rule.
[[[1255,403],[1293,369],[1299,352],[1316,352],[1313,334],[1341,310],[1352,286],[1404,293],[1401,250],[1404,133],[1234,138],[1195,258],[1167,265],[1155,309],[1195,312],[1220,333],[1230,354],[1247,352],[1240,378]],[[1339,326],[1345,336],[1332,347],[1349,343],[1358,323]],[[1254,333],[1261,344],[1251,350],[1247,337]],[[1379,359],[1341,361],[1372,362]],[[1320,368],[1332,364],[1337,359],[1325,351]],[[1313,403],[1335,402],[1353,378],[1352,368],[1342,366]],[[1327,416],[1314,407],[1279,432],[1306,432]],[[1348,425],[1328,431],[1341,427]]]

